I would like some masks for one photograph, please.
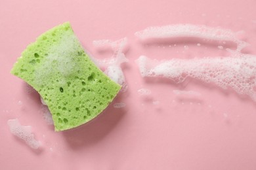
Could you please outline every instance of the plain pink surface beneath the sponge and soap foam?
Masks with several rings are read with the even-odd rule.
[[[0,2],[0,169],[256,169],[256,103],[232,90],[196,80],[175,84],[144,79],[135,59],[226,56],[219,42],[142,44],[134,33],[149,26],[204,24],[245,31],[256,54],[256,1],[7,1]],[[96,58],[93,41],[127,37],[129,86],[98,118],[77,129],[54,132],[43,119],[39,95],[9,72],[26,46],[51,27],[70,21],[83,46]],[[169,47],[171,45],[171,47]],[[189,48],[184,49],[184,45]],[[150,95],[137,90],[146,88]],[[178,97],[193,90],[199,98]],[[154,101],[159,101],[154,105]],[[7,121],[32,126],[33,150],[11,134]]]

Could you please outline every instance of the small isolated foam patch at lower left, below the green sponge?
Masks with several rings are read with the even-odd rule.
[[[8,120],[7,124],[10,127],[11,133],[25,141],[31,148],[38,149],[41,146],[41,143],[35,140],[31,126],[21,126],[18,119]]]

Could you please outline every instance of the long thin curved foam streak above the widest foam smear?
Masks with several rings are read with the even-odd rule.
[[[229,29],[220,27],[208,27],[206,25],[175,24],[161,27],[148,27],[135,33],[139,39],[146,41],[149,39],[169,39],[177,37],[196,37],[213,41],[231,41],[237,44],[237,51],[247,46],[247,42],[238,39],[238,34]]]

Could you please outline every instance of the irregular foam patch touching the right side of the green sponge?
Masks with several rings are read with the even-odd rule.
[[[127,38],[120,39],[118,41],[101,40],[93,41],[93,44],[99,48],[111,48],[114,52],[112,58],[96,59],[93,58],[96,65],[101,69],[104,69],[104,73],[108,75],[114,82],[122,86],[121,91],[127,90],[127,84],[125,82],[125,75],[121,69],[121,63],[128,62],[129,60],[125,57],[124,49],[127,46]]]

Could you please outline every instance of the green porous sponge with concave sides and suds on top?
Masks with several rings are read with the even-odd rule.
[[[30,44],[11,73],[40,93],[53,115],[55,131],[89,122],[121,88],[91,61],[68,22]]]

